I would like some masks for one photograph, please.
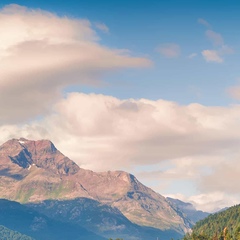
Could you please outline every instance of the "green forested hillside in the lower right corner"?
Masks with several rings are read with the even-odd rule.
[[[199,221],[184,240],[240,240],[240,205]]]

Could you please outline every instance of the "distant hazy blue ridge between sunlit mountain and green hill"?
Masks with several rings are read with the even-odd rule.
[[[184,214],[184,217],[188,218],[191,221],[192,226],[210,214],[207,212],[199,211],[191,203],[186,203],[179,199],[167,197],[167,200],[176,209],[176,211],[182,212]]]

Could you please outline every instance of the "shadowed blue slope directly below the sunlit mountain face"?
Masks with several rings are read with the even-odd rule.
[[[155,240],[159,236],[163,239],[181,237],[175,231],[161,231],[134,224],[117,208],[112,208],[109,205],[88,198],[62,201],[45,200],[41,203],[28,203],[26,206],[55,220],[64,219],[65,222],[84,227],[108,239]]]

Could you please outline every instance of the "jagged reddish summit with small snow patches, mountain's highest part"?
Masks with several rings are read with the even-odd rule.
[[[36,165],[60,175],[72,175],[79,171],[78,165],[58,151],[49,140],[11,139],[0,146],[0,157],[5,164],[11,160],[21,168]]]

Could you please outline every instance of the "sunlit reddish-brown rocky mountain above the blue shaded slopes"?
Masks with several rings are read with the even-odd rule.
[[[88,198],[140,226],[184,234],[191,225],[133,175],[82,169],[48,140],[12,139],[0,146],[0,197],[20,203]]]

